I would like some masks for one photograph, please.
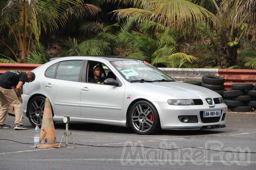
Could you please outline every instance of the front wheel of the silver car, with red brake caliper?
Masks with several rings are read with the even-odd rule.
[[[137,134],[151,135],[160,129],[157,109],[148,101],[138,101],[129,114],[129,123]]]

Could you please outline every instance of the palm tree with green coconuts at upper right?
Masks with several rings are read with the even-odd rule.
[[[125,1],[133,4],[134,8],[115,10],[120,18],[147,19],[181,30],[200,24],[197,28],[210,38],[219,56],[223,56],[225,63],[222,65],[225,67],[236,65],[237,49],[242,37],[246,31],[256,30],[256,0]],[[214,29],[208,32],[207,26]],[[217,34],[217,38],[214,34]]]

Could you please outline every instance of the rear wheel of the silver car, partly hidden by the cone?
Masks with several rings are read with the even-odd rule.
[[[27,109],[27,117],[29,118],[30,123],[34,127],[36,124],[38,124],[39,127],[41,127],[42,125],[45,98],[46,97],[44,96],[35,96],[29,102]]]

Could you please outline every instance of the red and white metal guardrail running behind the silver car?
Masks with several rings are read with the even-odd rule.
[[[0,74],[8,70],[31,71],[40,64],[17,64],[0,63]],[[180,69],[180,68],[159,68],[175,80],[196,80],[201,81],[204,75],[222,76],[225,78],[225,88],[230,89],[231,84],[241,82],[256,84],[256,70],[246,69]]]

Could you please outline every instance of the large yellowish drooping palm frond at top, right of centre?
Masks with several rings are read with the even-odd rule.
[[[148,0],[147,2],[147,9],[127,8],[114,12],[120,18],[134,16],[137,19],[157,21],[165,26],[190,25],[215,18],[210,11],[187,0]]]

